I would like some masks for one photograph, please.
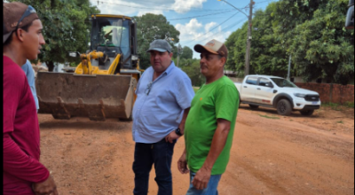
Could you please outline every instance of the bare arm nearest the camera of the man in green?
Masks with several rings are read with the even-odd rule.
[[[207,159],[205,160],[205,163],[203,164],[202,168],[196,173],[196,176],[193,178],[193,186],[197,190],[203,190],[207,188],[212,168],[216,163],[216,160],[218,159],[219,155],[225,148],[225,143],[227,141],[230,129],[231,121],[226,121],[223,119],[217,120],[217,129],[212,139],[209,155],[207,156]]]

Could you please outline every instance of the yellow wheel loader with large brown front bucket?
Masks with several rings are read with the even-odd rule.
[[[67,73],[39,72],[38,113],[55,119],[88,117],[131,120],[135,88],[141,75],[137,55],[136,20],[119,15],[91,15],[90,51]],[[69,55],[75,57],[78,52]]]

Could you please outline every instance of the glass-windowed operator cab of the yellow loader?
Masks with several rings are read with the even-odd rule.
[[[92,15],[91,19],[91,51],[102,51],[108,57],[93,59],[91,64],[106,70],[117,54],[121,54],[115,73],[120,73],[120,69],[136,68],[138,58],[135,20],[116,15]]]

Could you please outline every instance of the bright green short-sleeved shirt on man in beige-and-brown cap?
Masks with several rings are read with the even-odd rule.
[[[219,155],[212,175],[222,175],[227,167],[239,107],[239,92],[226,76],[205,84],[196,92],[185,123],[186,160],[196,173],[204,164],[217,129],[217,119],[231,121],[225,149]]]

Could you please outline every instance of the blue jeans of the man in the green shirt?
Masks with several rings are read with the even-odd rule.
[[[201,191],[193,187],[193,177],[195,175],[193,172],[190,173],[190,188],[186,195],[218,195],[217,187],[222,175],[211,175],[207,188]]]

